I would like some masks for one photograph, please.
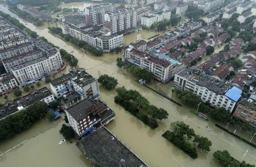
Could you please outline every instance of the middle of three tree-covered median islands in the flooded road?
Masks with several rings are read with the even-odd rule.
[[[212,142],[207,137],[196,135],[193,128],[189,128],[189,125],[184,122],[176,121],[171,123],[172,132],[166,131],[162,136],[173,143],[176,147],[180,148],[193,159],[197,158],[196,149],[189,142],[194,137],[193,142],[198,148],[202,150],[210,151]],[[185,140],[186,139],[186,140]]]

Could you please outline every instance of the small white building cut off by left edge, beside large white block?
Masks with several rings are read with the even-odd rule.
[[[18,88],[18,83],[11,74],[5,74],[0,77],[0,93],[5,94]]]

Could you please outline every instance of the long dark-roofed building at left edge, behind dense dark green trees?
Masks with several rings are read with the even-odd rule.
[[[4,119],[6,116],[26,109],[28,106],[36,101],[42,101],[47,104],[54,100],[54,96],[47,87],[40,90],[34,89],[28,95],[23,96],[17,100],[7,100],[2,107],[0,107],[0,119]]]

